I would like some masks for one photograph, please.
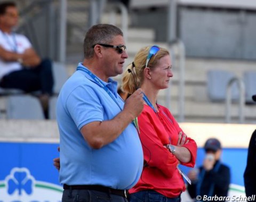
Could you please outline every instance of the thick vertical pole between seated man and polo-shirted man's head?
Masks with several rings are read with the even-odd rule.
[[[66,61],[66,29],[67,28],[67,0],[60,0],[60,41],[59,41],[59,61]]]

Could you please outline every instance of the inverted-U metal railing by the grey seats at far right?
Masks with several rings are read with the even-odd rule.
[[[239,87],[239,123],[244,123],[245,85],[242,79],[234,77],[229,80],[226,94],[226,123],[231,122],[231,86],[237,82]]]

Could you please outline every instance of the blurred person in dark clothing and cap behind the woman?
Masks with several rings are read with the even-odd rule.
[[[220,141],[215,138],[208,139],[204,149],[206,155],[203,165],[199,167],[199,171],[194,169],[188,173],[192,182],[187,187],[189,195],[191,198],[196,198],[199,195],[202,197],[202,201],[204,197],[227,197],[230,169],[220,162],[222,152]],[[198,201],[198,198],[195,201]],[[223,201],[223,199],[219,201]]]

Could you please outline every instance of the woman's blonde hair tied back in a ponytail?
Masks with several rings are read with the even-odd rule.
[[[134,62],[127,66],[122,79],[123,91],[128,92],[129,94],[133,94],[133,92],[137,90],[136,87],[139,88],[143,83],[143,72],[146,68],[146,60],[150,48],[151,46],[141,48],[140,51],[135,55]],[[156,55],[153,55],[149,60],[148,68],[151,70],[155,68],[157,62],[162,57],[170,55],[165,48],[159,48],[160,49]]]

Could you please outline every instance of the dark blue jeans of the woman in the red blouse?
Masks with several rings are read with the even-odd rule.
[[[147,202],[147,201],[158,201],[158,202],[180,202],[180,196],[176,198],[168,198],[161,193],[154,190],[138,191],[136,193],[131,193],[130,202]]]

